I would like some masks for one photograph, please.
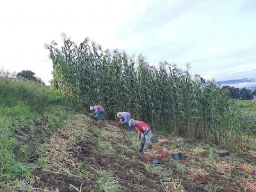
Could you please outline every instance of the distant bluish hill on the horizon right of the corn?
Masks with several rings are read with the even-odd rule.
[[[233,79],[233,80],[227,80],[227,81],[216,81],[216,84],[223,85],[229,85],[234,86],[236,88],[246,88],[249,90],[255,90],[256,89],[256,79]]]

